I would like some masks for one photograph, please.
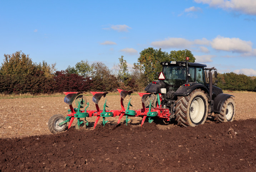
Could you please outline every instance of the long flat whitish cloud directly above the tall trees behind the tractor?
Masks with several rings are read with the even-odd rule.
[[[151,45],[161,48],[188,48],[192,42],[184,38],[168,38],[163,41],[154,41]]]

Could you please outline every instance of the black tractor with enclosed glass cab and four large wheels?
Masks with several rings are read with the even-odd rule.
[[[233,121],[235,101],[233,95],[224,94],[213,84],[212,72],[217,79],[217,69],[206,68],[205,64],[188,62],[161,62],[162,72],[158,79],[150,83],[145,91],[152,93],[145,106],[156,107],[157,94],[161,94],[161,105],[171,111],[179,126],[204,124],[206,118],[214,113],[217,123]]]

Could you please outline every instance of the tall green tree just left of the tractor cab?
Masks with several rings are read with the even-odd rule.
[[[169,61],[168,53],[149,47],[140,52],[138,58],[138,67],[144,72],[147,77],[147,83],[158,78],[157,72],[162,71],[160,62]]]

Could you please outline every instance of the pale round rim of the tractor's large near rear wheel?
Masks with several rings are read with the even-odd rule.
[[[205,104],[199,97],[195,98],[190,106],[190,118],[193,123],[199,123],[205,113]]]

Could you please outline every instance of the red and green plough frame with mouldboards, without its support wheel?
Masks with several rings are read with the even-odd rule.
[[[130,101],[131,101],[131,99],[130,99],[130,101],[128,103],[128,107],[125,110],[123,100],[127,95],[131,95],[131,93],[133,93],[133,91],[126,91],[126,90],[121,90],[121,89],[118,89],[118,91],[119,91],[120,97],[121,97],[121,99],[120,99],[121,110],[105,110],[105,107],[108,107],[106,105],[107,100],[105,100],[103,110],[99,109],[99,106],[98,106],[99,100],[102,98],[102,96],[105,97],[105,95],[108,94],[108,92],[91,92],[93,94],[93,102],[95,103],[96,110],[86,110],[86,108],[85,108],[85,110],[80,110],[80,107],[78,107],[78,110],[77,110],[77,108],[75,108],[76,110],[74,110],[74,108],[72,106],[72,102],[74,101],[75,97],[78,94],[81,94],[82,92],[64,92],[64,94],[66,94],[64,102],[69,104],[69,106],[70,106],[69,111],[71,112],[71,114],[67,115],[67,116],[71,117],[70,121],[69,121],[68,128],[70,128],[70,126],[72,125],[72,122],[73,122],[74,118],[77,117],[76,114],[79,114],[79,113],[87,113],[88,114],[87,117],[89,117],[89,118],[93,117],[93,116],[97,116],[97,118],[95,120],[95,123],[94,123],[94,129],[97,126],[97,123],[98,123],[100,117],[103,117],[103,125],[105,125],[105,123],[107,123],[107,121],[104,121],[105,117],[109,117],[109,116],[113,116],[113,117],[119,116],[118,124],[120,123],[120,120],[122,119],[122,117],[124,115],[126,116],[126,124],[130,120],[130,119],[128,119],[129,116],[142,117],[141,126],[143,125],[143,123],[144,123],[144,121],[146,120],[147,117],[149,119],[149,123],[151,123],[153,121],[151,119],[152,117],[162,118],[166,121],[170,120],[171,114],[169,113],[169,109],[161,108],[161,102],[159,102],[157,104],[156,108],[151,107],[151,103],[149,105],[149,108],[145,107],[145,104],[143,102],[143,96],[144,95],[148,96],[148,94],[150,94],[150,93],[138,93],[142,97],[142,109],[129,110],[129,106],[132,106],[130,104]],[[159,95],[159,97],[160,96],[161,95]],[[159,100],[161,100],[161,98]],[[89,103],[87,103],[87,104],[89,106]],[[79,104],[79,106],[80,106],[80,104]]]

